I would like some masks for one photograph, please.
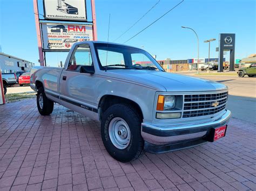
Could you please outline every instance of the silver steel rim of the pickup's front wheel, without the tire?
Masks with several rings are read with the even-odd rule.
[[[130,144],[131,131],[124,119],[115,117],[109,124],[109,137],[112,144],[120,150]]]

